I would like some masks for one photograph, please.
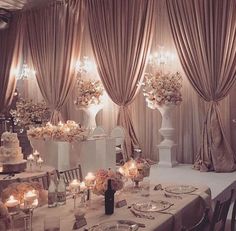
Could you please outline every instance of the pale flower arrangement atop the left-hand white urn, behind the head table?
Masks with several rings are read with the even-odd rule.
[[[103,90],[101,81],[79,78],[74,103],[78,107],[100,104]]]

